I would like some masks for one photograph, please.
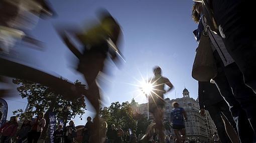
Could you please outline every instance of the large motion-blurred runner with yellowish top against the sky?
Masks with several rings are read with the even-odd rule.
[[[116,61],[117,55],[123,58],[117,47],[121,32],[119,24],[106,10],[100,11],[99,19],[99,24],[96,24],[85,32],[72,27],[60,29],[58,26],[56,28],[65,44],[79,59],[77,70],[84,75],[88,84],[88,94],[86,97],[96,110],[94,121],[95,132],[92,134],[93,142],[99,142],[98,114],[100,94],[96,77],[100,71],[104,72],[104,61],[108,54],[110,54],[113,61]],[[74,38],[83,44],[84,49],[82,53],[71,42],[67,34],[73,35]]]

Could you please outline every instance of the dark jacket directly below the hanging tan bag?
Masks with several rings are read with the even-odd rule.
[[[207,106],[218,103],[224,98],[215,84],[210,81],[198,81],[198,100],[199,108],[207,109]]]

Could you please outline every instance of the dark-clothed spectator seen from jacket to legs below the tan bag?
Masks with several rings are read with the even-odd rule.
[[[222,118],[226,118],[235,131],[236,123],[231,112],[229,111],[228,104],[221,96],[217,86],[210,83],[210,81],[198,81],[198,100],[200,108],[199,112],[204,116],[204,109],[209,111],[209,114],[216,126],[217,132],[220,135],[221,142],[231,141],[227,135],[227,131],[225,130],[225,125]],[[235,131],[232,131],[234,132],[234,135],[236,135]]]

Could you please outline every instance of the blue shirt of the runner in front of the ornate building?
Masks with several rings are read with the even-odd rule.
[[[182,107],[173,108],[171,112],[173,124],[184,124],[183,111]]]

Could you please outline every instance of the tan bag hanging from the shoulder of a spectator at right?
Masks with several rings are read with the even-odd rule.
[[[210,81],[216,76],[216,63],[207,32],[202,32],[192,67],[192,77],[198,81]]]

